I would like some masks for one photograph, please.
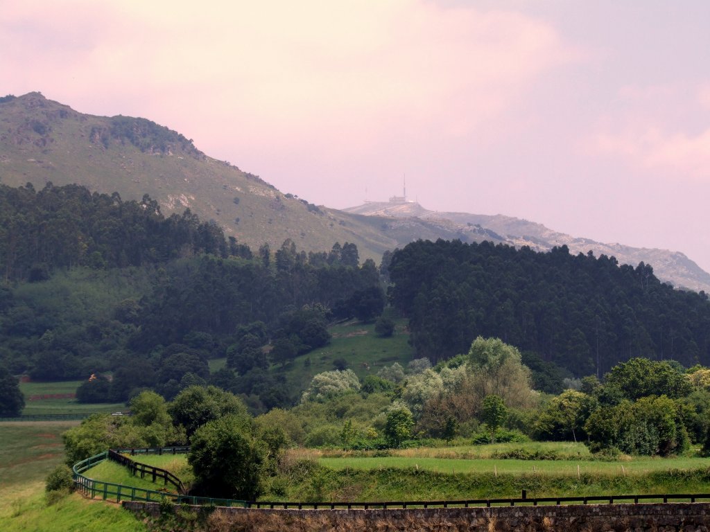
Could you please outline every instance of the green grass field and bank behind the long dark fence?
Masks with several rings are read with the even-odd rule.
[[[491,458],[491,455],[512,449],[542,449],[564,459]],[[704,493],[710,490],[710,459],[623,457],[613,461],[592,460],[584,445],[572,443],[420,448],[394,450],[390,456],[377,457],[333,458],[327,454],[315,450],[290,451],[280,475],[268,482],[268,492],[261,499],[456,500],[520,497],[523,489],[527,490],[528,497]],[[574,456],[579,458],[572,459]],[[147,455],[139,460],[175,472],[173,468],[184,467],[185,457]]]

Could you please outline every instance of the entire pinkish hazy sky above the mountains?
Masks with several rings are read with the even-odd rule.
[[[710,271],[707,0],[0,0],[0,95],[141,116],[337,209],[400,195]]]

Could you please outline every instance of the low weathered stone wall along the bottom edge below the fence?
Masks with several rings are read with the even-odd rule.
[[[214,532],[422,531],[422,532],[708,532],[710,503],[587,504],[564,506],[498,506],[437,509],[243,509],[176,506],[173,516],[160,514],[156,503],[124,502],[136,514],[153,519],[202,522],[198,529]],[[186,514],[192,511],[192,516]],[[180,518],[182,515],[182,518]],[[194,528],[193,528],[194,529]]]

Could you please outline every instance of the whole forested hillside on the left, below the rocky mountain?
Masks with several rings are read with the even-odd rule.
[[[354,244],[307,255],[286,240],[252,253],[190,211],[166,218],[148,196],[0,186],[0,218],[0,361],[37,380],[95,374],[77,392],[87,402],[147,387],[169,398],[216,379],[256,390],[259,408],[289,404],[300,390],[271,364],[385,304],[375,263],[360,265]],[[207,360],[225,356],[228,370],[210,375]]]

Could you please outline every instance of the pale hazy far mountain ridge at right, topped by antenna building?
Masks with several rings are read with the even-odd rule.
[[[577,238],[565,233],[552,231],[540,223],[512,218],[498,214],[452,213],[429,211],[413,202],[368,202],[344,209],[351,214],[364,216],[390,217],[404,225],[428,223],[438,226],[442,233],[455,234],[464,242],[493,242],[523,245],[536,251],[547,251],[555,246],[567,245],[570,253],[593,252],[594,255],[616,257],[622,264],[638,265],[645,262],[653,267],[655,275],[674,287],[681,289],[704,290],[710,293],[710,274],[701,269],[683,253],[677,251],[632,248],[623,244],[605,244],[589,238]],[[394,222],[392,222],[394,223]],[[432,229],[433,230],[433,229]]]

